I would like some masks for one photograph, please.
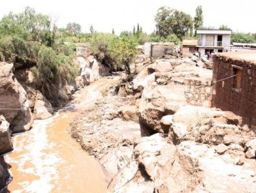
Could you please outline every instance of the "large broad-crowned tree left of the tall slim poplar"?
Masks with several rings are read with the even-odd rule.
[[[163,38],[176,34],[182,40],[192,28],[192,17],[189,14],[166,7],[158,9],[155,21],[156,34]]]

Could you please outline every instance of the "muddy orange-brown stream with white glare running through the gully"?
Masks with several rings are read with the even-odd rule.
[[[30,132],[12,137],[15,151],[10,192],[108,192],[98,161],[71,139],[69,123],[80,109],[90,108],[117,79],[101,79],[75,95],[75,110],[35,121]]]

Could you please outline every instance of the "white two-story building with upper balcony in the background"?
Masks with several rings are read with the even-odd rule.
[[[198,51],[201,54],[206,52],[226,52],[230,49],[231,30],[197,30],[199,41],[197,42]]]

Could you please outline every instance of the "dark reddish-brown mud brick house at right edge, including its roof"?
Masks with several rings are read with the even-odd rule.
[[[243,117],[256,131],[256,52],[216,54],[212,106]]]

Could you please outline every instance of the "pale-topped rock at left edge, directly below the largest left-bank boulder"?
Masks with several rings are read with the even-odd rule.
[[[0,116],[0,155],[13,150],[9,125],[6,119]]]

